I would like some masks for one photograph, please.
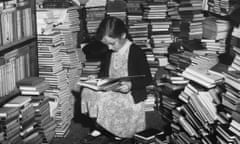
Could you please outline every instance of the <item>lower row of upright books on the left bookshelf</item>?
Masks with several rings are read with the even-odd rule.
[[[6,96],[16,88],[16,82],[30,76],[30,50],[35,47],[30,43],[19,49],[5,53],[1,57],[0,96]]]

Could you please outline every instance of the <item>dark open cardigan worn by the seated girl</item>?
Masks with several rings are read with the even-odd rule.
[[[109,76],[109,66],[112,52],[106,53],[102,59],[99,77]],[[128,58],[128,75],[145,75],[144,78],[133,79],[131,93],[135,103],[146,99],[146,86],[152,84],[152,76],[144,52],[135,44],[132,44]]]

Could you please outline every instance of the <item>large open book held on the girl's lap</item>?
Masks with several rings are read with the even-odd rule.
[[[122,81],[130,81],[136,78],[143,78],[145,75],[124,76],[118,78],[96,78],[86,81],[78,81],[77,84],[96,91],[109,91],[118,88]]]

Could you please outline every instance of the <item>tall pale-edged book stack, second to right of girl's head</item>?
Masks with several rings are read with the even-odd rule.
[[[149,20],[149,37],[155,57],[168,54],[168,46],[173,42],[169,27],[171,21],[167,18],[167,2],[149,2],[143,6],[143,18]]]

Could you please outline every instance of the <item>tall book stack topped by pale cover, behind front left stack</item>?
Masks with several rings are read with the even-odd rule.
[[[77,55],[77,37],[80,31],[80,15],[78,7],[69,7],[66,9],[48,10],[55,16],[55,25],[53,31],[61,33],[63,46],[60,49],[63,68],[67,70],[69,88],[73,88],[76,79],[79,77],[81,61]],[[58,25],[59,23],[59,25]]]

